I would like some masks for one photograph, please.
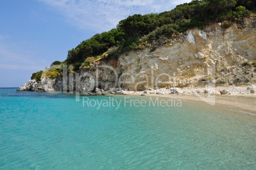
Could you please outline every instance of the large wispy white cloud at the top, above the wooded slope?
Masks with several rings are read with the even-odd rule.
[[[59,11],[66,21],[80,29],[109,31],[129,15],[160,13],[190,0],[38,0]]]

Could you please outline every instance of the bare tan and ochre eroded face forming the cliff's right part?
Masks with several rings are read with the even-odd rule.
[[[255,20],[255,18],[253,19]],[[256,60],[256,31],[252,20],[244,29],[234,24],[229,29],[222,25],[208,25],[204,30],[190,29],[186,36],[171,44],[150,49],[131,51],[120,56],[120,67],[134,76],[135,83],[124,85],[136,90],[139,82],[145,87],[185,87],[200,81],[202,76],[220,73],[231,66],[241,67],[246,60]],[[234,73],[237,69],[234,67]],[[255,74],[255,73],[252,73]],[[125,81],[131,80],[129,77]],[[157,83],[157,85],[156,85]]]

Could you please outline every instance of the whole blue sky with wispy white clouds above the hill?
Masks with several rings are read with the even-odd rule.
[[[170,11],[190,0],[0,0],[0,87],[31,74],[129,15]]]

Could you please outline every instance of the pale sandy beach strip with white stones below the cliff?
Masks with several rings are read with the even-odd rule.
[[[249,113],[256,116],[256,89],[254,88],[255,86],[253,87],[253,93],[251,93],[250,90],[248,90],[248,87],[246,86],[217,87],[210,89],[171,88],[144,91],[129,91],[126,89],[110,89],[108,91],[104,91],[103,89],[96,88],[96,93],[82,92],[82,96],[127,95],[160,98],[173,97],[174,99],[181,99],[181,101],[188,101],[190,103],[193,102],[205,106],[211,106],[213,108],[232,108],[233,110]],[[223,92],[226,93],[222,94]],[[75,94],[75,92],[68,92],[66,94]],[[207,99],[210,102],[208,102]]]

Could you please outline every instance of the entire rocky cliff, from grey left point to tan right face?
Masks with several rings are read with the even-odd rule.
[[[256,81],[256,17],[245,24],[222,23],[190,29],[155,50],[132,50],[118,59],[97,60],[79,74],[30,80],[18,90],[91,91],[122,87],[146,90],[169,87],[241,85]],[[65,71],[64,71],[65,72]]]

